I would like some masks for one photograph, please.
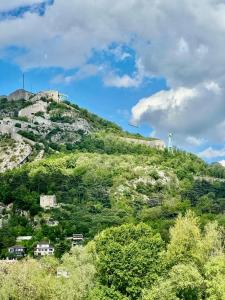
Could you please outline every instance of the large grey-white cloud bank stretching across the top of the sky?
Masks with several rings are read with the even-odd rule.
[[[38,1],[1,5],[33,2]],[[23,67],[65,68],[86,63],[93,50],[129,43],[150,74],[165,76],[173,87],[187,86],[221,77],[224,13],[222,0],[55,0],[44,16],[27,13],[1,22],[0,40],[1,47],[26,48],[17,58]]]

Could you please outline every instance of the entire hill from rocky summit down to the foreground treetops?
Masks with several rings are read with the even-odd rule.
[[[0,140],[0,257],[18,236],[32,236],[23,242],[30,254],[48,239],[61,256],[72,234],[87,242],[124,223],[145,222],[167,240],[168,228],[189,208],[202,223],[225,225],[222,166],[168,152],[161,141],[124,132],[68,101],[23,93],[29,100],[0,100],[1,129],[17,128],[16,139],[22,138]],[[43,210],[41,195],[56,195],[58,206]]]

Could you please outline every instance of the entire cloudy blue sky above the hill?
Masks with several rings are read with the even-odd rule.
[[[225,161],[224,16],[224,0],[1,0],[0,94],[24,72],[28,90]]]

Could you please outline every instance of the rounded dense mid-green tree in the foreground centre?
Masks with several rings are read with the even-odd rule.
[[[106,229],[94,240],[100,284],[138,299],[161,271],[163,241],[145,224]]]

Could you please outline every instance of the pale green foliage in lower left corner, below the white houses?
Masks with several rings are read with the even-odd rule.
[[[57,267],[69,277],[57,278]],[[0,298],[3,300],[83,300],[93,287],[95,268],[85,248],[75,247],[62,258],[24,259],[0,266]]]

